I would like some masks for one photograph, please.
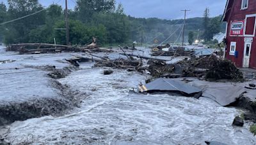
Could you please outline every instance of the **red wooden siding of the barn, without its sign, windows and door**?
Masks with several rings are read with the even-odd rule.
[[[241,10],[242,0],[229,0],[227,3],[227,8],[223,15],[223,21],[228,23],[227,25],[227,48],[226,48],[226,58],[232,60],[237,67],[243,67],[243,57],[244,57],[244,38],[245,36],[230,36],[230,26],[231,22],[236,20],[245,20],[246,15],[256,14],[256,0],[248,1],[248,8],[246,10]],[[246,34],[253,34],[253,28],[255,25],[255,17],[247,18],[246,29],[244,31]],[[244,24],[245,25],[245,24]],[[254,30],[256,31],[256,30]],[[252,37],[250,37],[252,38]],[[237,58],[234,55],[230,55],[230,42],[236,42],[236,51],[238,52]],[[253,36],[251,55],[250,55],[250,67],[256,69],[256,38]]]

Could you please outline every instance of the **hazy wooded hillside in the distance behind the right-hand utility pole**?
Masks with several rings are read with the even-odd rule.
[[[221,15],[218,16],[218,19],[221,20]],[[166,40],[166,43],[170,42],[181,42],[181,37],[179,39],[180,31],[182,30],[182,24],[184,20],[163,20],[159,18],[134,18],[129,17],[131,21],[132,29],[134,30],[141,25],[143,25],[143,43],[154,43],[154,39],[157,39],[159,42],[166,40],[173,32],[173,36],[170,39]],[[203,27],[204,18],[188,18],[186,20],[186,29],[185,29],[185,41],[188,42],[188,33],[193,31],[196,34],[196,38],[200,38],[204,32]],[[220,32],[225,32],[225,23],[221,25]],[[178,30],[177,30],[178,29]],[[177,30],[177,31],[176,31]],[[175,32],[176,31],[176,32]],[[131,39],[133,41],[141,41],[141,29],[139,31],[131,32]]]

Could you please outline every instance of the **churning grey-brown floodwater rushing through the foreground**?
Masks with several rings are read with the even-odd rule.
[[[145,75],[83,64],[59,79],[86,93],[81,106],[60,117],[16,121],[2,128],[12,144],[256,144],[246,127],[232,127],[241,111],[207,99],[166,94],[131,93]]]

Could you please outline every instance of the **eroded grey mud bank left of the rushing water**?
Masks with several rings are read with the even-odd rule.
[[[79,105],[79,97],[49,74],[67,76],[77,68],[64,61],[72,54],[17,55],[1,48],[0,126],[47,115],[58,115]],[[63,60],[63,61],[62,61]],[[62,61],[62,62],[61,62]]]

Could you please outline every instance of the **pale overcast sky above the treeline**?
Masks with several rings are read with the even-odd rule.
[[[7,0],[0,0],[6,3]],[[65,5],[65,0],[39,0],[44,6],[52,3]],[[76,0],[68,0],[70,8],[74,8]],[[157,17],[165,19],[183,18],[184,12],[191,10],[188,17],[202,17],[205,8],[210,9],[211,17],[222,15],[226,0],[116,0],[122,3],[125,14],[133,17]]]

